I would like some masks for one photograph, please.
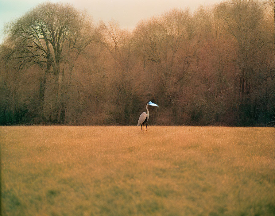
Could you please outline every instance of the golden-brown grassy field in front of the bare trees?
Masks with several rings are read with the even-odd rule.
[[[0,127],[2,215],[275,215],[275,129]]]

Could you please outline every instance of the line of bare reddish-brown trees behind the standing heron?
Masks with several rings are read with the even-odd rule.
[[[0,124],[275,123],[274,1],[173,9],[131,30],[44,3],[5,28]]]

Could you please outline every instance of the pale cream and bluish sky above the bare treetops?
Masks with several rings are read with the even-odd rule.
[[[172,8],[196,10],[200,5],[212,5],[221,0],[48,0],[70,3],[86,10],[97,22],[114,19],[123,28],[133,29],[138,21],[160,15]],[[45,0],[0,0],[0,42],[5,23],[16,20]]]

